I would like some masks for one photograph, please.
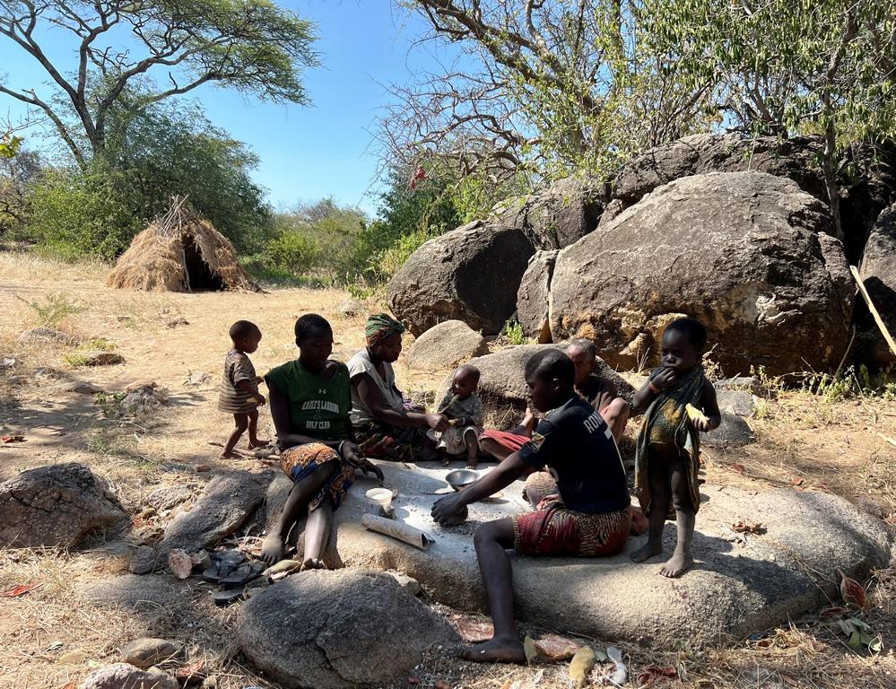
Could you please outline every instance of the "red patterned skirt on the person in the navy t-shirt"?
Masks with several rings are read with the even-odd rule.
[[[629,537],[631,510],[587,514],[563,504],[557,484],[545,471],[526,479],[534,511],[513,517],[513,543],[519,554],[602,557],[619,553]]]

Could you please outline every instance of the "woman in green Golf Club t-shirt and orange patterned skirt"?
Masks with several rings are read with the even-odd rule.
[[[380,481],[383,473],[354,442],[348,368],[329,359],[333,328],[326,318],[307,314],[296,321],[295,333],[299,358],[265,376],[280,466],[295,486],[276,527],[265,538],[261,559],[270,564],[283,560],[286,536],[307,512],[301,568],[321,569],[333,511],[354,482],[355,468],[377,475]]]

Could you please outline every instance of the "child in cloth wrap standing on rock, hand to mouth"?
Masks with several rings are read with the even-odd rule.
[[[677,577],[693,564],[691,552],[700,491],[700,432],[721,423],[716,390],[700,361],[706,347],[706,328],[695,318],[678,318],[663,333],[662,366],[650,373],[635,394],[634,413],[644,412],[635,458],[635,488],[648,516],[648,542],[631,554],[643,563],[663,552],[663,527],[670,502],[675,510],[678,541],[660,574]],[[688,414],[688,406],[702,415]],[[646,410],[646,411],[645,411]]]

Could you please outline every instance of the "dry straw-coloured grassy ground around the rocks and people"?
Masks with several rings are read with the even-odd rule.
[[[335,356],[347,359],[363,340],[363,316],[344,317],[337,306],[348,295],[338,290],[275,290],[267,294],[173,294],[110,290],[106,266],[65,266],[25,254],[0,252],[0,359],[20,362],[0,373],[0,432],[22,433],[26,441],[0,448],[0,480],[22,469],[82,461],[109,478],[126,509],[136,514],[144,497],[163,484],[202,484],[200,464],[217,466],[217,449],[229,420],[215,409],[217,379],[228,348],[227,328],[250,318],[264,339],[253,356],[259,372],[293,356],[292,325],[300,313],[329,318],[336,334]],[[51,296],[58,295],[58,296]],[[22,348],[19,333],[40,325],[38,310],[55,299],[61,310],[78,312],[58,326],[83,339],[102,338],[126,362],[86,369],[74,366],[76,348]],[[375,309],[378,304],[368,305]],[[58,311],[58,309],[57,309]],[[446,371],[422,374],[399,362],[405,389],[432,391]],[[187,386],[194,372],[210,380]],[[74,380],[89,380],[110,393],[132,382],[153,380],[168,405],[151,418],[123,423],[102,414],[94,397],[66,392]],[[866,509],[896,515],[896,405],[882,397],[827,401],[800,392],[781,392],[761,405],[752,420],[758,441],[745,449],[709,450],[710,483],[749,484],[758,489],[790,485],[795,490],[837,493]],[[266,424],[265,424],[266,425]],[[256,468],[251,459],[228,467]],[[157,526],[157,525],[156,525]],[[151,632],[187,643],[190,658],[204,658],[218,686],[268,686],[253,676],[231,650],[234,608],[215,608],[207,593],[187,609],[158,609],[137,615],[98,609],[80,602],[83,590],[111,582],[127,570],[128,540],[154,528],[137,520],[132,533],[92,548],[0,551],[0,591],[22,583],[42,586],[15,598],[0,598],[0,687],[63,689],[80,683],[91,667],[117,659],[117,649]],[[867,582],[872,610],[865,615],[883,640],[877,656],[857,655],[845,646],[836,622],[813,616],[788,628],[770,630],[758,641],[736,641],[724,649],[643,650],[621,645],[631,664],[632,683],[645,667],[674,667],[677,676],[657,685],[677,687],[893,687],[896,686],[896,571],[878,571]],[[613,640],[600,640],[606,645]],[[445,653],[427,658],[420,686],[439,681],[454,687],[518,689],[568,686],[564,666],[517,668],[470,666]],[[406,685],[406,684],[405,684]],[[643,685],[643,683],[642,683]]]

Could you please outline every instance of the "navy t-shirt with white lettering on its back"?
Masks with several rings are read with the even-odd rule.
[[[545,414],[518,457],[535,469],[552,467],[570,510],[605,514],[629,506],[613,433],[594,407],[578,397]]]

